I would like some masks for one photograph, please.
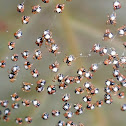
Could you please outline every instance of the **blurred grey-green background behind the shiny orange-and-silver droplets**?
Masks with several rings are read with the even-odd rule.
[[[91,54],[90,57],[78,58],[72,66],[68,67],[63,63],[63,58],[66,55],[73,54],[78,57],[80,53],[83,56],[88,56],[91,48],[95,43],[99,43],[101,46],[106,46],[108,48],[114,47],[119,55],[121,56],[125,53],[125,48],[123,47],[123,42],[126,37],[120,38],[115,37],[113,41],[102,41],[103,34],[106,28],[110,28],[111,31],[116,34],[117,28],[126,23],[126,2],[125,0],[120,0],[122,8],[117,11],[117,25],[116,26],[106,26],[107,14],[113,12],[113,0],[72,0],[72,2],[66,2],[65,0],[50,0],[49,4],[44,4],[41,0],[25,0],[25,11],[24,13],[18,13],[16,11],[17,5],[22,3],[23,0],[0,0],[0,20],[4,21],[8,25],[8,32],[0,32],[0,60],[6,60],[7,66],[5,69],[0,69],[0,99],[9,100],[9,107],[13,103],[10,99],[10,95],[14,92],[18,93],[22,99],[33,100],[37,98],[40,100],[41,105],[39,108],[34,106],[24,107],[20,103],[20,108],[17,110],[12,110],[10,115],[10,121],[4,122],[0,120],[0,126],[16,126],[15,118],[26,116],[31,116],[33,122],[31,124],[26,124],[23,121],[23,126],[56,126],[59,120],[67,119],[64,118],[62,110],[63,102],[61,100],[62,95],[65,93],[71,94],[71,99],[69,103],[72,105],[74,103],[82,103],[83,107],[86,107],[86,103],[82,101],[82,95],[76,95],[74,90],[76,87],[83,86],[86,79],[80,84],[73,84],[68,86],[65,90],[60,90],[57,87],[57,93],[55,95],[47,94],[47,86],[51,84],[58,85],[58,83],[52,82],[55,73],[48,69],[48,66],[55,62],[56,60],[60,63],[59,73],[64,75],[76,76],[76,71],[78,68],[84,66],[88,69],[92,63],[103,62],[106,56],[100,57],[97,54]],[[65,9],[62,14],[54,13],[54,8],[58,3],[65,3]],[[32,14],[31,7],[34,5],[41,5],[42,11],[40,14]],[[30,22],[28,25],[21,23],[22,16],[30,16]],[[16,40],[13,34],[21,29],[23,32],[23,37]],[[43,44],[41,47],[43,58],[40,61],[33,60],[32,55],[34,50],[38,49],[35,45],[35,41],[38,37],[42,36],[44,30],[50,29],[53,33],[53,38],[60,47],[61,54],[54,56],[48,52],[48,49]],[[16,43],[16,48],[13,51],[8,49],[8,42],[14,41]],[[24,69],[25,60],[21,57],[21,52],[24,50],[30,51],[29,61],[33,63],[33,68],[39,70],[40,76],[37,79],[32,78],[30,71]],[[19,60],[15,63],[11,61],[11,56],[17,53],[19,54]],[[9,82],[8,71],[10,71],[13,65],[20,66],[20,72],[17,76],[17,80],[14,83]],[[126,73],[121,70],[124,75]],[[36,81],[40,78],[47,81],[45,90],[42,93],[37,93],[35,91]],[[112,67],[104,66],[101,64],[99,70],[94,74],[91,82],[100,89],[100,93],[94,97],[94,102],[99,99],[104,98],[104,82],[108,78],[112,77]],[[29,93],[23,92],[21,90],[22,82],[31,82],[32,91]],[[118,83],[118,82],[117,82]],[[125,91],[125,89],[122,89]],[[74,115],[71,120],[75,123],[82,122],[85,126],[125,126],[126,125],[126,113],[120,111],[120,106],[126,103],[126,99],[118,99],[117,96],[113,97],[114,102],[112,105],[106,105],[102,108],[96,108],[95,110],[89,111],[85,110],[80,116]],[[51,111],[57,109],[61,111],[59,117],[52,117]],[[4,110],[0,107],[0,110]],[[74,109],[71,109],[74,112]],[[50,117],[48,120],[41,119],[41,115],[44,112],[48,112]]]

